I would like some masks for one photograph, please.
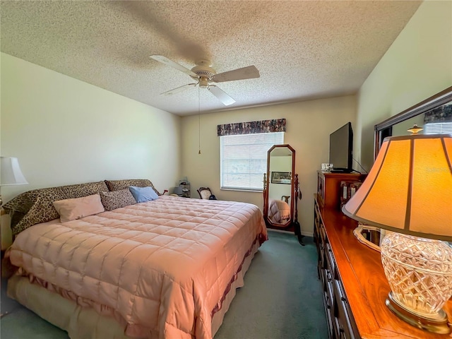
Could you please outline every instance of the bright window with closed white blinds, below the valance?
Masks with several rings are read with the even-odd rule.
[[[267,151],[284,143],[284,132],[220,136],[222,189],[263,190]]]

